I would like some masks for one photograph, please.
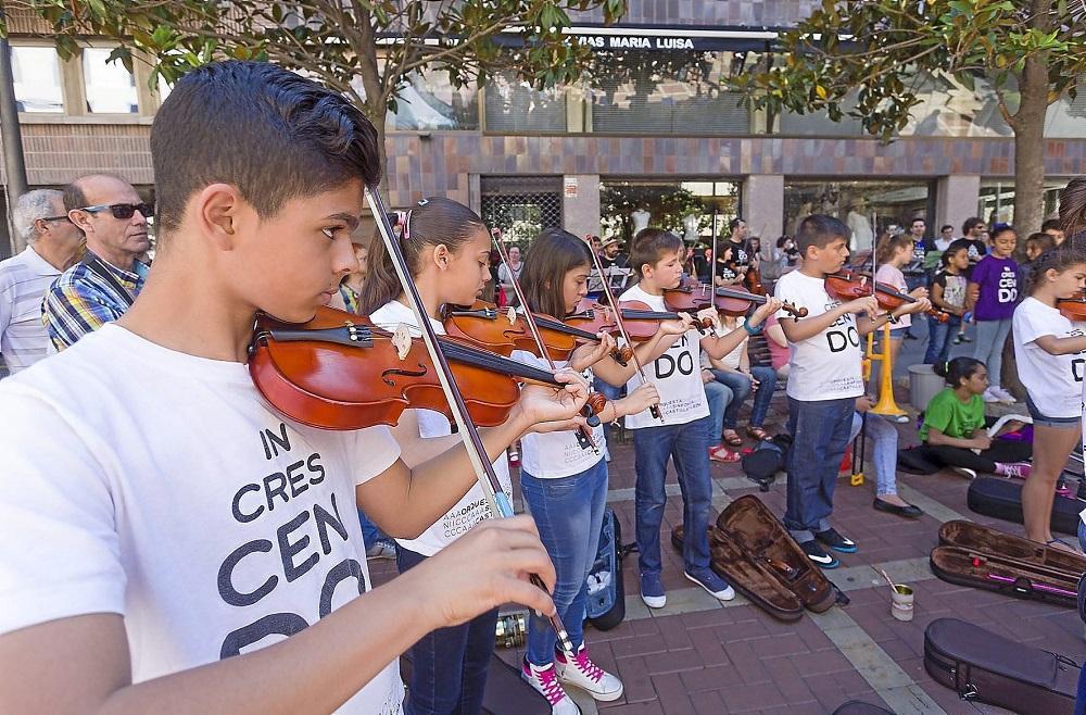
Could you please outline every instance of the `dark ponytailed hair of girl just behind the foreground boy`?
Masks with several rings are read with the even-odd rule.
[[[452,199],[422,199],[408,211],[396,212],[400,249],[414,278],[421,271],[427,248],[445,246],[453,253],[479,230],[487,230],[479,215]],[[369,244],[369,273],[362,284],[358,308],[369,315],[403,293],[395,265],[381,238],[374,235]]]

